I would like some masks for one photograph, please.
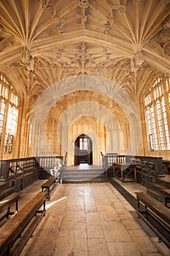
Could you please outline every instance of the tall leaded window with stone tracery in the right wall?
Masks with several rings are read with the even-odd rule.
[[[151,150],[170,149],[170,78],[158,77],[144,99]]]

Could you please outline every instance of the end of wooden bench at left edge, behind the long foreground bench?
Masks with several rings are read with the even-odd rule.
[[[9,215],[15,214],[18,211],[18,199],[20,192],[14,192],[7,197],[4,197],[0,201],[0,221],[5,217],[9,218]],[[15,203],[15,211],[10,211],[10,207]]]

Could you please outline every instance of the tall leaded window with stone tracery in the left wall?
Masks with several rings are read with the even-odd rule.
[[[12,152],[17,124],[18,96],[7,78],[0,74],[0,143],[4,145],[4,152]]]

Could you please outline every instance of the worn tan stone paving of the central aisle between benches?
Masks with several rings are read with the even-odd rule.
[[[46,208],[22,256],[170,255],[109,182],[59,184]]]

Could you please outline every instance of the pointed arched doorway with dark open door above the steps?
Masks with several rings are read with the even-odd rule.
[[[88,135],[82,134],[74,142],[74,165],[93,165],[93,145]]]

